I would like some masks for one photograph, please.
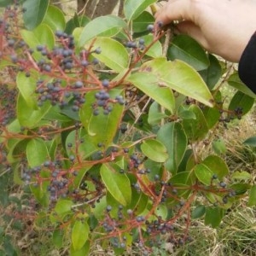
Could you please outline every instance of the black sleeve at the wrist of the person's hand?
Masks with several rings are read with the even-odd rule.
[[[241,81],[256,93],[256,32],[241,55],[238,73]]]

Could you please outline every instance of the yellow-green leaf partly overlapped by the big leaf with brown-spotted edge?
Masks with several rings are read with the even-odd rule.
[[[175,108],[175,99],[172,90],[167,87],[161,87],[159,79],[154,73],[133,73],[129,77],[128,81],[139,90],[142,90],[146,95],[153,98],[154,101],[158,102],[162,107],[173,113]]]

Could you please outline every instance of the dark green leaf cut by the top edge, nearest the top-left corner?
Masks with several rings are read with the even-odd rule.
[[[34,29],[44,20],[48,5],[49,0],[26,0],[23,3],[23,8],[26,9],[23,20],[27,29]]]

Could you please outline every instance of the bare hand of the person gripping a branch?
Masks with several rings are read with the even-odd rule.
[[[155,20],[163,25],[178,20],[177,32],[227,61],[238,62],[256,31],[256,1],[169,0]]]

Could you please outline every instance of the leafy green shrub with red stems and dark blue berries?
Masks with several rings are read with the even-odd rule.
[[[161,237],[188,242],[195,218],[217,227],[250,191],[255,205],[249,173],[230,179],[214,137],[255,96],[192,38],[169,44],[146,11],[155,2],[66,22],[48,1],[26,0],[1,16],[1,168],[40,204],[35,225],[53,230],[56,247],[69,240],[71,255],[94,243],[147,255]],[[230,102],[224,80],[236,88]]]

